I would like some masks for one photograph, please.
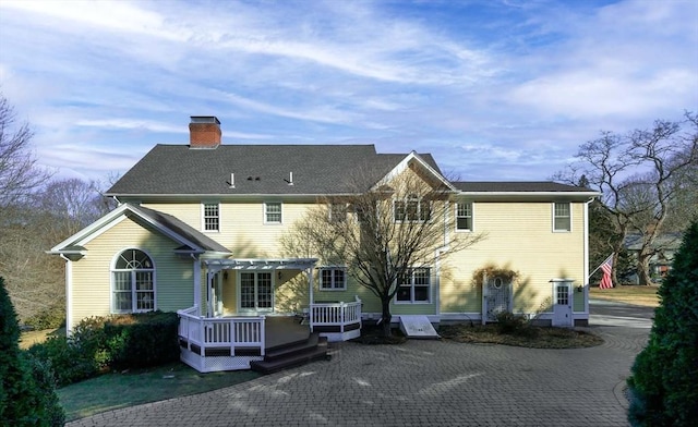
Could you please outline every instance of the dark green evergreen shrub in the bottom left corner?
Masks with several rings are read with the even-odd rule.
[[[22,352],[19,338],[16,313],[0,278],[0,425],[62,426],[50,366]]]

